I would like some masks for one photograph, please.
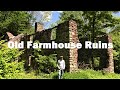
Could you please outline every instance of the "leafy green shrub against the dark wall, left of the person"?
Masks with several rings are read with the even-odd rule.
[[[39,43],[39,41],[35,41],[36,43]],[[33,57],[36,62],[37,67],[37,73],[42,72],[53,72],[57,67],[57,58],[55,54],[50,55],[44,55],[43,50],[40,48],[34,49]]]

